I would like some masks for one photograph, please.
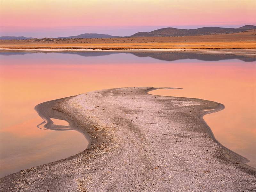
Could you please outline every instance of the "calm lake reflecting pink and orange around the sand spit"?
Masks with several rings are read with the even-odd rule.
[[[154,86],[151,94],[213,100],[204,116],[221,144],[256,167],[256,57],[179,52],[1,52],[0,177],[83,151],[80,132],[44,129],[34,107],[93,90]],[[54,124],[65,124],[53,120]]]

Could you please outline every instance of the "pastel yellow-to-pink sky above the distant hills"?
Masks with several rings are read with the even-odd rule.
[[[126,36],[158,28],[256,25],[255,0],[1,0],[0,36]]]

